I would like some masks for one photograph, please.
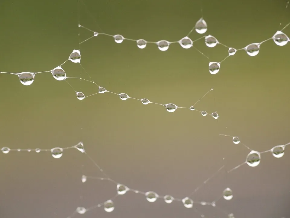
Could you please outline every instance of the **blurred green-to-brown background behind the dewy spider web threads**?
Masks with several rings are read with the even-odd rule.
[[[206,35],[221,43],[243,48],[271,38],[290,21],[286,1],[35,1],[0,2],[2,72],[50,70],[65,61],[80,40],[91,32],[121,34],[147,41],[176,41],[184,37],[203,17]],[[89,8],[89,10],[88,10]],[[78,11],[80,16],[78,16]],[[281,24],[280,24],[281,23]],[[284,30],[290,35],[290,28]],[[190,38],[201,35],[195,31]],[[121,101],[110,93],[79,101],[66,81],[50,73],[37,74],[30,86],[17,76],[0,75],[0,147],[50,149],[69,147],[83,141],[86,152],[110,178],[141,191],[188,196],[196,187],[225,165],[210,182],[192,196],[211,202],[226,187],[234,192],[230,201],[218,200],[217,208],[194,205],[205,217],[290,217],[290,158],[262,154],[257,167],[242,163],[248,150],[234,145],[237,135],[258,151],[286,144],[289,135],[289,45],[272,40],[250,57],[239,51],[221,64],[218,74],[208,72],[209,61],[221,61],[227,48],[194,48],[170,45],[159,51],[148,44],[139,49],[135,42],[121,44],[99,35],[81,44],[82,66],[91,78],[109,91],[130,97],[148,98],[161,104],[189,107],[212,87],[196,109],[217,111],[218,120],[197,111],[177,109],[168,113],[159,105]],[[63,65],[67,76],[89,79],[78,64]],[[86,81],[68,80],[85,95],[97,92]],[[65,150],[60,159],[49,153],[10,152],[0,155],[0,217],[69,216],[78,206],[90,207],[110,199],[116,187],[108,181],[88,179],[82,174],[103,174],[76,149]],[[76,217],[200,217],[181,202],[149,203],[141,194],[129,192],[114,200],[115,210],[97,208]],[[226,212],[222,212],[226,211]]]

